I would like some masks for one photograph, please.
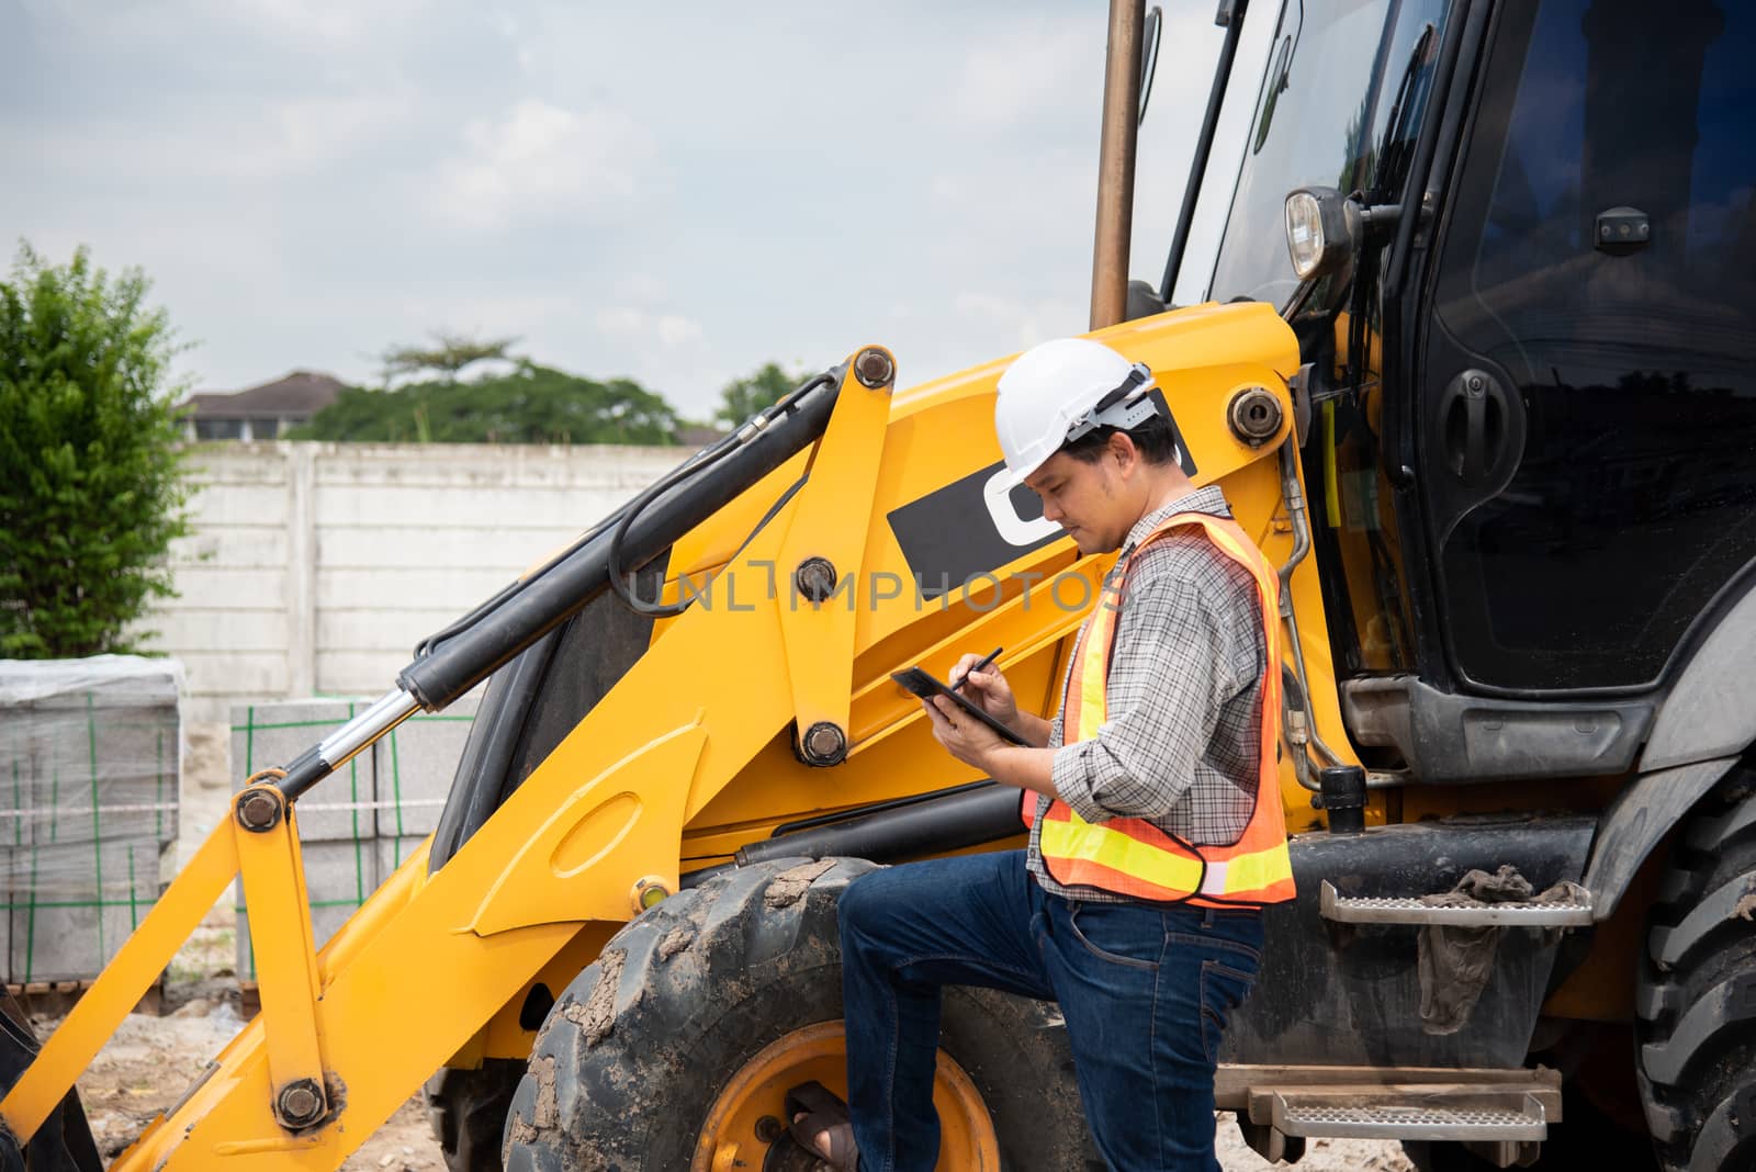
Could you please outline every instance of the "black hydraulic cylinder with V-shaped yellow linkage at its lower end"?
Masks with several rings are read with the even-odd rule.
[[[802,395],[757,416],[687,463],[680,475],[669,479],[666,491],[634,502],[630,507],[641,512],[630,518],[620,547],[623,567],[618,568],[632,570],[650,561],[727,500],[817,440],[838,402],[843,374],[845,367],[813,381]],[[286,768],[258,774],[249,788],[235,795],[234,816],[209,835],[0,1102],[0,1116],[19,1140],[37,1132],[239,874],[260,925],[255,947],[263,1014],[258,1025],[265,1030],[256,1035],[258,1042],[265,1040],[274,1070],[269,1093],[272,1123],[297,1132],[318,1126],[341,1111],[344,1088],[325,1088],[320,1056],[316,1002],[321,998],[321,979],[293,804],[416,711],[441,711],[599,595],[611,572],[611,535],[620,519],[622,512],[613,514],[564,556],[478,609],[472,623],[404,668],[395,691]],[[669,853],[674,854],[674,849]],[[676,890],[674,879],[669,890]],[[374,905],[385,904],[379,893]]]

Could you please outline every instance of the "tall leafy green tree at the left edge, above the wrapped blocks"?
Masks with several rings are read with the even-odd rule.
[[[0,656],[132,651],[174,593],[188,388],[170,381],[179,346],[149,289],[84,247],[49,265],[28,244],[0,281]]]

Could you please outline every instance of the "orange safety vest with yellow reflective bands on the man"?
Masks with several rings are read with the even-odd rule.
[[[1268,560],[1245,537],[1236,521],[1205,512],[1166,518],[1134,547],[1140,556],[1150,542],[1175,528],[1199,526],[1220,553],[1256,579],[1263,602],[1266,670],[1263,672],[1263,744],[1257,765],[1256,807],[1243,835],[1231,846],[1194,846],[1141,818],[1112,818],[1089,823],[1066,802],[1052,802],[1043,816],[1040,846],[1048,874],[1064,886],[1099,888],[1138,900],[1231,907],[1280,904],[1292,898],[1292,856],[1280,812],[1278,725],[1280,725],[1280,609],[1278,584]],[[1073,668],[1062,697],[1062,744],[1096,737],[1108,718],[1105,688],[1110,653],[1120,616],[1120,584],[1127,565],[1112,577],[1105,597],[1080,630]],[[1117,598],[1110,595],[1115,593]],[[1036,793],[1024,791],[1024,825],[1036,821]]]

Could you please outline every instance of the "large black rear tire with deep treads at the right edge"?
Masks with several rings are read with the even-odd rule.
[[[1647,1126],[1666,1172],[1756,1167],[1756,770],[1675,835],[1635,991]]]

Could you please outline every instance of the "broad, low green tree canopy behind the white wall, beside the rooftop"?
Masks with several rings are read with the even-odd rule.
[[[291,439],[439,444],[674,444],[678,416],[630,379],[599,382],[520,360],[504,375],[348,388]]]

